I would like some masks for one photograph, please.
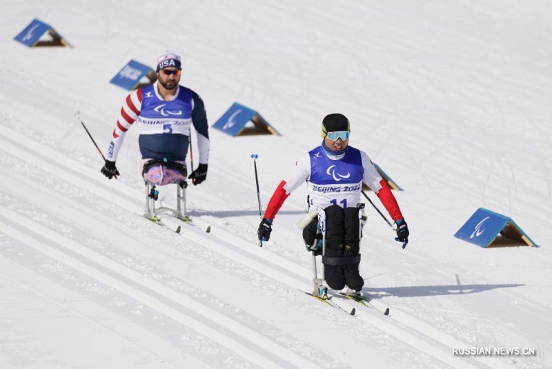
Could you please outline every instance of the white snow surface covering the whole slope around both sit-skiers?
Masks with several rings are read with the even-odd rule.
[[[552,368],[550,1],[0,5],[0,368]],[[73,48],[14,41],[34,18]],[[140,216],[137,130],[109,181],[75,119],[107,150],[128,94],[110,79],[165,50],[211,125],[237,101],[282,133],[210,130],[208,179],[187,191],[198,227],[181,235]],[[256,241],[250,155],[264,210],[331,112],[404,188],[406,249],[366,207],[363,292],[388,317],[302,292],[304,186]],[[540,247],[453,237],[480,207]],[[478,348],[535,352],[455,355]]]

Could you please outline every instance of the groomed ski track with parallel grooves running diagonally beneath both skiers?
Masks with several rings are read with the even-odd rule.
[[[1,131],[0,143],[3,154],[20,161],[28,171],[37,172],[36,175],[55,174],[52,186],[63,188],[67,194],[48,188],[37,189],[32,176],[6,173],[3,181],[12,192],[3,196],[18,201],[24,199],[26,203],[1,206],[4,235],[193,330],[226,350],[226,356],[221,355],[226,359],[237,357],[237,361],[262,368],[317,368],[321,362],[330,366],[354,366],[354,358],[336,357],[335,352],[331,352],[331,343],[323,337],[349,341],[351,352],[365,350],[366,346],[357,332],[344,335],[333,328],[335,324],[362,326],[372,336],[385,337],[388,346],[411,346],[413,358],[419,360],[418,363],[426,362],[428,359],[424,355],[427,355],[433,358],[430,362],[437,359],[446,368],[493,368],[494,361],[490,357],[453,356],[451,347],[466,347],[469,343],[440,332],[400,308],[391,307],[391,315],[385,317],[375,309],[362,308],[355,301],[339,301],[349,308],[357,308],[357,316],[348,317],[306,297],[296,290],[311,288],[311,270],[219,227],[206,234],[200,229],[206,227],[201,219],[195,219],[199,228],[194,228],[167,218],[168,225],[182,226],[181,235],[161,231],[136,215],[144,207],[142,192],[121,181],[107,181],[99,170],[91,170],[63,157],[6,126]],[[81,198],[89,196],[103,199],[103,208],[86,206]],[[41,197],[42,202],[48,197],[50,208],[43,210],[56,215],[57,219],[49,219],[52,227],[32,220],[33,217],[41,219],[41,210],[32,206],[37,197]],[[97,238],[111,247],[94,250],[79,240],[64,237],[61,225],[66,220],[66,226],[79,228],[84,237]],[[155,235],[148,235],[148,230],[154,229]],[[110,237],[103,237],[103,232]],[[164,233],[157,237],[159,232]],[[4,257],[7,253],[3,250]],[[134,259],[130,260],[128,255],[121,257],[125,253],[132,254]],[[216,270],[194,259],[201,255],[217,255],[221,263],[228,265],[224,280],[219,279],[221,276]],[[154,277],[152,270],[162,277]],[[186,288],[179,290],[168,280],[184,283]],[[377,306],[378,301],[373,303]],[[286,321],[288,309],[302,310],[302,314],[294,314],[312,321],[313,330],[294,330],[293,321]],[[266,326],[259,321],[273,323]],[[148,325],[144,324],[144,328],[148,329]],[[391,354],[392,350],[380,353],[390,357]],[[155,357],[155,353],[151,355]],[[188,355],[179,359],[201,361],[201,355],[194,357],[193,352]],[[178,366],[179,359],[158,357],[159,362],[174,367]]]

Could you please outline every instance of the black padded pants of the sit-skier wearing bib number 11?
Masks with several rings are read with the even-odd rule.
[[[345,286],[352,290],[361,290],[364,279],[359,275],[360,263],[360,222],[357,208],[328,206],[326,212],[326,253],[324,279],[333,290],[342,290]],[[317,235],[318,218],[303,230],[306,244],[313,245],[322,235]]]

